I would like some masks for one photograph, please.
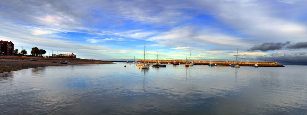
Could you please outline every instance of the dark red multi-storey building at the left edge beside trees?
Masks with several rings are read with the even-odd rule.
[[[12,41],[0,40],[0,55],[14,55],[14,44]]]

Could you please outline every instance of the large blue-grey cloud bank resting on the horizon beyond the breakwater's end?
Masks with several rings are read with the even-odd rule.
[[[307,65],[307,52],[276,52],[260,56],[258,59],[278,62],[284,65]]]

